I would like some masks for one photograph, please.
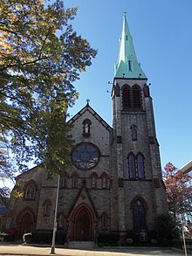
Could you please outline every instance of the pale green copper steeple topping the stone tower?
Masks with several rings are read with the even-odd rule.
[[[147,79],[134,52],[133,38],[128,28],[126,14],[123,17],[123,28],[120,36],[120,56],[114,66],[114,77]]]

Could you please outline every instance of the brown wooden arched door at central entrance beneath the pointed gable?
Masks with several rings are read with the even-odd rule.
[[[91,216],[85,208],[82,208],[75,216],[74,239],[76,241],[91,240],[91,231]]]

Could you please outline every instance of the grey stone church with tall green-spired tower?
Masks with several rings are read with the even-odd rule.
[[[123,17],[119,59],[112,88],[113,127],[90,106],[72,124],[72,167],[64,170],[58,192],[58,229],[68,241],[95,241],[100,234],[154,230],[167,211],[152,98]],[[23,197],[10,198],[7,230],[52,232],[58,177],[37,166],[17,176]]]

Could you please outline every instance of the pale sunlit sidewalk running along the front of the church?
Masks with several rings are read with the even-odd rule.
[[[51,246],[23,246],[0,243],[0,255],[50,255]],[[56,255],[62,256],[183,256],[184,252],[168,248],[151,247],[105,247],[89,250],[55,248]]]

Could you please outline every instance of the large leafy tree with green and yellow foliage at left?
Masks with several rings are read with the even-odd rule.
[[[15,166],[70,163],[67,108],[96,51],[72,28],[76,8],[60,0],[0,0],[0,177]]]

